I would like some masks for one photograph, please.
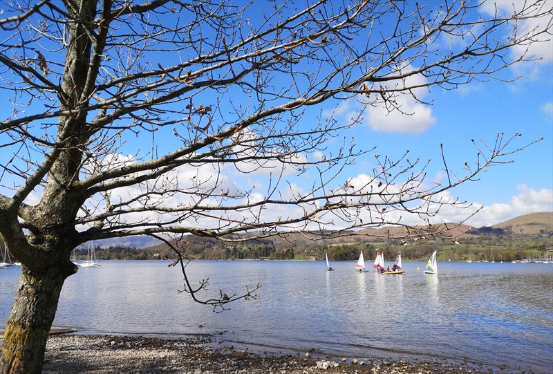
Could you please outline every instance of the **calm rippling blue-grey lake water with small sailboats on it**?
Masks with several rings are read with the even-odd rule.
[[[353,271],[353,262],[193,261],[191,278],[208,275],[205,297],[263,284],[260,299],[216,314],[178,294],[182,275],[168,261],[100,261],[81,268],[62,291],[55,326],[85,333],[182,336],[223,333],[227,344],[257,350],[339,357],[426,355],[509,368],[553,371],[553,266],[440,263],[438,277]],[[0,270],[5,325],[19,268]],[[203,325],[200,328],[199,325]],[[217,335],[219,336],[219,335]]]

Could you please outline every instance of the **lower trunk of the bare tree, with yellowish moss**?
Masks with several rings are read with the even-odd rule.
[[[46,340],[66,274],[55,269],[36,274],[21,268],[19,289],[6,324],[0,373],[40,373]]]

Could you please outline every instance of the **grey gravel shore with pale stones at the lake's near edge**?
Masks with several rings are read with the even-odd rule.
[[[48,339],[44,373],[489,373],[440,361],[266,357],[232,346],[212,348],[209,343],[209,337],[57,335]]]

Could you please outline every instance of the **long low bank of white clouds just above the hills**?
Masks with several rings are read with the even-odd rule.
[[[120,162],[128,162],[129,158],[119,158],[115,157],[113,160],[119,160]],[[120,162],[115,162],[119,164]],[[103,165],[106,169],[111,168],[111,165]],[[227,169],[225,169],[228,171]],[[256,203],[267,198],[267,194],[270,191],[267,190],[268,187],[262,187],[261,183],[256,183],[254,180],[245,180],[245,178],[231,178],[230,176],[225,175],[224,171],[218,169],[216,165],[201,165],[198,167],[192,167],[190,165],[185,165],[178,167],[176,170],[171,171],[167,175],[162,176],[162,178],[156,181],[150,181],[149,183],[141,183],[140,185],[133,185],[129,187],[120,187],[110,192],[111,203],[117,204],[130,200],[138,194],[143,193],[144,191],[163,188],[171,188],[171,186],[178,186],[178,189],[181,190],[177,194],[165,194],[159,198],[153,196],[150,200],[147,201],[149,204],[159,203],[160,206],[165,207],[178,207],[193,205],[198,202],[198,191],[204,191],[205,194],[209,194],[210,191],[213,191],[214,194],[221,194],[225,191],[228,191],[229,195],[241,194],[248,189],[252,189],[252,194],[247,197],[238,197],[234,200],[228,200],[228,198],[223,199],[215,197],[207,197],[201,203],[202,205],[212,205],[218,206],[221,204],[241,204],[241,203]],[[435,178],[440,178],[439,174]],[[259,182],[259,181],[258,181]],[[279,199],[279,200],[290,200],[294,201],[301,197],[311,196],[308,190],[304,190],[300,185],[294,183],[294,180],[288,180],[289,183],[282,183],[281,187],[272,195],[270,198]],[[254,183],[256,187],[252,185]],[[330,186],[329,186],[330,187]],[[346,201],[348,203],[374,203],[377,204],[379,211],[375,210],[375,206],[371,208],[371,211],[368,209],[360,209],[356,211],[355,209],[351,210],[341,210],[335,212],[321,213],[317,218],[314,218],[308,225],[303,222],[293,223],[285,227],[279,227],[280,230],[315,230],[318,227],[325,229],[338,229],[349,227],[352,224],[352,220],[355,221],[358,218],[362,219],[364,223],[402,223],[406,225],[420,225],[424,223],[423,214],[428,209],[428,212],[435,213],[428,217],[431,223],[460,223],[465,221],[472,213],[476,212],[481,205],[478,202],[473,202],[469,205],[452,205],[451,203],[455,202],[456,199],[453,198],[449,191],[444,191],[440,194],[432,196],[431,201],[425,205],[426,201],[418,201],[413,203],[408,203],[410,209],[415,208],[415,204],[422,203],[422,209],[420,209],[421,215],[419,214],[409,214],[404,211],[404,209],[395,210],[394,207],[387,207],[386,203],[389,200],[386,200],[386,196],[379,194],[379,192],[384,192],[388,194],[388,198],[393,196],[393,200],[397,199],[397,196],[404,194],[406,197],[407,189],[418,189],[424,190],[426,187],[424,185],[415,186],[413,184],[404,185],[400,182],[397,182],[393,185],[381,184],[379,180],[375,180],[372,176],[368,174],[358,174],[347,180],[343,180],[342,183],[337,182],[335,185],[334,191],[337,193],[343,193],[348,191],[353,194],[359,194],[360,191],[371,195],[359,197],[347,196],[346,198],[336,198]],[[409,192],[412,195],[412,190]],[[97,201],[88,201],[86,206],[93,209],[97,205],[97,209],[100,211],[104,208],[104,204],[101,201],[100,196],[95,196]],[[229,197],[230,198],[230,197]],[[334,202],[335,199],[330,199],[330,203]],[[131,203],[130,207],[140,207],[141,204],[145,203],[144,200]],[[293,218],[300,218],[303,214],[312,212],[321,202],[317,203],[302,203],[300,205],[294,204],[274,204],[274,205],[265,205],[263,207],[253,207],[250,209],[241,209],[240,211],[212,211],[206,212],[207,214],[212,214],[213,217],[207,216],[182,216],[182,221],[176,223],[180,225],[189,225],[192,227],[218,227],[221,223],[225,224],[234,221],[236,222],[266,222],[266,221],[286,221]],[[380,209],[387,207],[386,212],[382,213]],[[473,216],[467,221],[467,224],[474,225],[476,227],[484,225],[494,225],[502,221],[506,221],[509,218],[517,216],[519,214],[527,214],[530,212],[543,212],[543,211],[552,211],[553,210],[553,191],[552,189],[532,189],[527,185],[518,186],[518,194],[512,196],[509,203],[497,202],[491,204],[487,207],[484,207],[480,213],[476,216]],[[218,217],[221,217],[220,221]],[[169,219],[177,218],[178,214],[167,214],[161,212],[135,212],[131,214],[124,214],[124,216],[119,217],[122,222],[126,223],[138,223],[138,222],[165,222]],[[357,221],[359,222],[359,221]],[[233,225],[230,223],[230,225]]]

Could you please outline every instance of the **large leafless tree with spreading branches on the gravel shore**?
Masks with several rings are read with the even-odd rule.
[[[550,32],[550,2],[505,17],[461,1],[307,3],[4,3],[0,233],[23,267],[3,373],[41,371],[59,292],[77,272],[71,250],[86,241],[409,229],[402,214],[466,207],[443,192],[522,148],[501,134],[491,147],[475,143],[476,160],[457,172],[444,158],[444,184],[427,183],[427,162],[408,153],[374,155],[370,180],[353,185],[341,171],[371,151],[347,140],[363,113],[340,124],[314,111],[347,98],[402,111],[399,95],[500,79],[524,59],[512,47]],[[545,27],[518,27],[529,19]],[[263,171],[265,183],[232,183],[225,170]],[[309,189],[289,183],[308,175]],[[324,230],[333,225],[341,230]]]

